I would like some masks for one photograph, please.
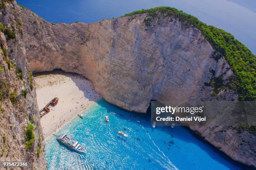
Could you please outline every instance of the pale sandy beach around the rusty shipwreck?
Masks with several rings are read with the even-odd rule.
[[[54,72],[34,78],[39,110],[54,97],[59,98],[58,104],[41,118],[45,139],[101,97],[92,82],[81,75]]]

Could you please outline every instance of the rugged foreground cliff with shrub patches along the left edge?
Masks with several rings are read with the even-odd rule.
[[[44,170],[46,161],[36,92],[16,7],[16,2],[1,2],[0,161],[22,161],[28,163],[24,169]],[[30,147],[26,148],[28,125],[33,125],[34,135]]]

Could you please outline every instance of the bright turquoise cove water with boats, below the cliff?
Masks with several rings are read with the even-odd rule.
[[[150,115],[122,110],[100,100],[71,120],[57,135],[67,133],[86,146],[73,152],[52,135],[46,141],[48,170],[237,170],[243,169],[184,127],[150,125]],[[110,122],[105,122],[105,115]],[[117,134],[123,131],[129,137]]]

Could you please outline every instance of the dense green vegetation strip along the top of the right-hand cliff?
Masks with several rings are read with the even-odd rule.
[[[256,100],[256,56],[236,40],[233,35],[211,25],[206,25],[196,17],[179,11],[173,7],[156,7],[148,10],[138,10],[124,16],[148,13],[144,23],[150,26],[151,20],[157,17],[172,16],[182,22],[188,22],[202,32],[205,39],[212,47],[225,57],[232,68],[235,77],[231,80],[230,87],[236,90],[239,100]]]

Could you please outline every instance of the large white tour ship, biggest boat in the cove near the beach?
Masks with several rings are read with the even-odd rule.
[[[87,153],[87,151],[84,149],[84,146],[79,144],[72,137],[68,136],[67,133],[57,136],[57,140],[71,149],[77,150],[78,152]]]

